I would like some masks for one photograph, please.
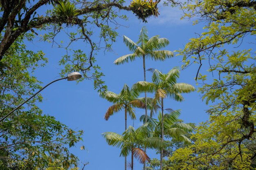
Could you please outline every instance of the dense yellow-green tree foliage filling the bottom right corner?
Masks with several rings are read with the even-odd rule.
[[[235,170],[255,168],[255,135],[239,141],[248,132],[241,132],[238,115],[227,111],[225,115],[212,115],[201,124],[191,139],[194,144],[180,148],[170,158],[171,170]],[[252,121],[255,121],[252,120]],[[182,153],[182,154],[181,154]]]

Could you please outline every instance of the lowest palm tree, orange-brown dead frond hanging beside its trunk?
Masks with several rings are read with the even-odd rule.
[[[127,157],[131,153],[131,169],[133,170],[134,157],[140,163],[150,161],[150,158],[143,150],[144,148],[159,149],[164,147],[164,141],[159,137],[153,137],[150,129],[148,124],[144,124],[136,130],[129,126],[122,135],[114,132],[104,132],[102,136],[109,145],[121,148],[120,156]]]

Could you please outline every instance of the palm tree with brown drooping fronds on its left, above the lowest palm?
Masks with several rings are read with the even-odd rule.
[[[119,112],[120,110],[124,109],[124,115],[125,115],[125,130],[127,129],[127,113],[131,117],[131,119],[136,119],[135,116],[135,108],[144,108],[145,104],[141,99],[137,99],[139,97],[139,92],[136,90],[133,90],[127,86],[127,84],[124,84],[124,87],[121,90],[121,93],[116,94],[111,91],[101,93],[100,97],[103,97],[104,99],[107,99],[109,102],[114,103],[112,106],[110,106],[104,116],[106,120],[109,119],[110,116],[112,116],[114,113]],[[126,157],[124,160],[125,164],[125,170],[126,170]]]

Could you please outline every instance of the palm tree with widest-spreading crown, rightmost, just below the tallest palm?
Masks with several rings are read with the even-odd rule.
[[[164,140],[164,98],[170,97],[175,101],[182,102],[184,98],[181,93],[190,93],[195,91],[195,88],[186,83],[177,83],[177,78],[180,76],[180,71],[177,68],[171,69],[167,74],[163,74],[157,69],[153,72],[152,83],[150,82],[137,82],[133,85],[132,89],[136,91],[148,91],[155,93],[153,105],[160,105],[162,110],[161,121],[161,139]],[[145,115],[147,119],[147,115]],[[146,120],[145,120],[146,121]],[[160,170],[162,170],[163,149],[160,153]]]

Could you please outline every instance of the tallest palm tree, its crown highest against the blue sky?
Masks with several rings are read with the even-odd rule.
[[[173,52],[168,50],[160,50],[166,47],[170,42],[166,38],[159,38],[158,35],[148,38],[148,31],[146,27],[142,27],[139,35],[139,40],[137,43],[130,40],[130,38],[123,36],[124,43],[128,47],[131,54],[124,55],[115,60],[114,64],[120,65],[126,62],[134,61],[136,57],[143,59],[143,71],[144,71],[144,81],[146,81],[146,65],[145,59],[160,60],[164,61],[166,58],[173,57]],[[145,91],[145,99],[147,99],[147,94]],[[146,105],[147,102],[145,102]],[[147,115],[147,109],[145,107],[145,115]],[[147,121],[146,121],[147,122]]]

